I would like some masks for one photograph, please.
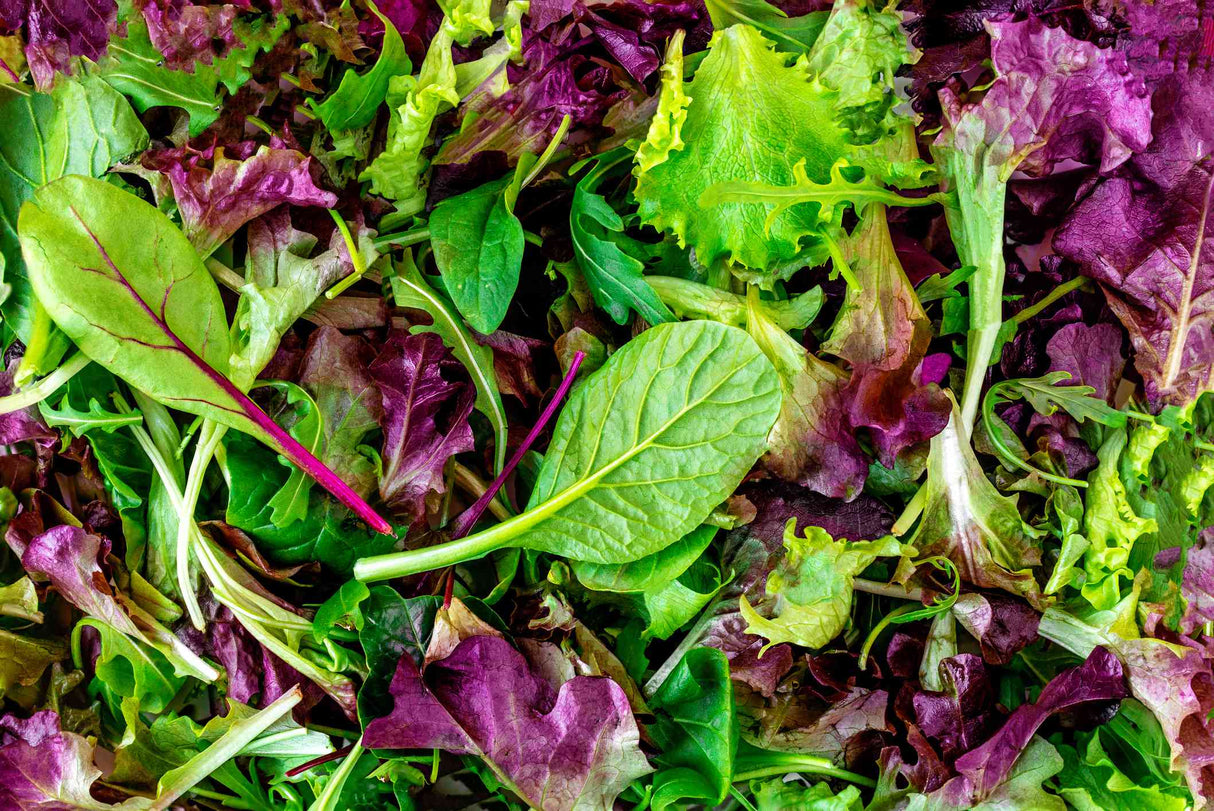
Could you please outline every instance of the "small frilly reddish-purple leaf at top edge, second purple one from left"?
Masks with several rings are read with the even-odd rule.
[[[232,28],[239,10],[233,5],[195,5],[186,0],[146,0],[142,4],[148,36],[174,70],[193,73],[194,63],[211,64],[215,46],[237,44]]]

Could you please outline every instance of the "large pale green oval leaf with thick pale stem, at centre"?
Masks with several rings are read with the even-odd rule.
[[[569,397],[527,510],[467,538],[359,561],[395,577],[521,546],[595,563],[666,548],[720,504],[766,447],[779,412],[771,363],[742,330],[660,324]]]

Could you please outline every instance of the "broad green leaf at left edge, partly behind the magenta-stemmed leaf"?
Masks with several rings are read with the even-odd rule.
[[[39,134],[0,143],[0,266],[12,288],[0,304],[5,324],[27,345],[34,325],[34,293],[17,242],[17,212],[42,183],[63,175],[98,176],[143,149],[147,130],[123,96],[93,76],[59,76],[52,93],[0,85],[0,131]],[[58,352],[67,341],[58,336]],[[53,357],[52,357],[53,356]],[[47,352],[49,372],[59,355]]]

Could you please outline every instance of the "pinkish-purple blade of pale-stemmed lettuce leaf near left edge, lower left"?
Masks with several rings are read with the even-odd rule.
[[[55,590],[73,606],[124,634],[142,637],[114,597],[109,578],[102,568],[109,555],[107,538],[63,524],[36,535],[24,549],[18,549],[19,544],[13,543],[12,534],[7,540],[13,551],[21,555],[21,565],[25,571],[47,578]]]

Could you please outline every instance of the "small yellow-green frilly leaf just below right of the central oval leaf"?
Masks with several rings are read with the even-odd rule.
[[[892,535],[879,540],[835,540],[821,527],[798,537],[795,520],[784,527],[784,558],[767,575],[764,617],[745,595],[742,616],[748,634],[767,639],[767,647],[793,642],[819,648],[843,633],[851,617],[852,580],[878,557],[904,555]]]

